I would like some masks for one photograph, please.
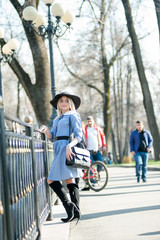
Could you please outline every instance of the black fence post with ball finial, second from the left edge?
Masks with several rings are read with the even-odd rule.
[[[28,130],[28,131],[27,131]],[[39,213],[39,197],[38,197],[38,187],[37,187],[37,164],[35,157],[35,148],[34,148],[34,136],[33,136],[33,127],[27,127],[26,133],[31,137],[31,155],[32,155],[32,167],[33,167],[33,183],[34,183],[34,206],[35,206],[35,218],[37,223],[38,230],[38,240],[41,239],[41,230],[40,230],[40,213]]]

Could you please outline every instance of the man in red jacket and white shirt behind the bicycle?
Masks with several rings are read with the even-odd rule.
[[[94,118],[92,116],[87,117],[87,125],[85,126],[85,139],[87,149],[91,154],[91,162],[103,161],[101,152],[106,152],[106,137],[103,130],[95,124]],[[89,190],[88,186],[85,186],[82,189],[82,191],[87,190]]]

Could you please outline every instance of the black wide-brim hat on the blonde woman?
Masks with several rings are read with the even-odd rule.
[[[50,104],[57,109],[57,103],[58,103],[58,100],[63,97],[63,96],[66,96],[68,98],[71,98],[72,101],[74,102],[74,105],[75,105],[75,109],[78,109],[80,104],[81,104],[81,99],[80,97],[76,96],[76,95],[73,95],[69,92],[61,92],[59,94],[57,94],[51,101],[50,101]]]

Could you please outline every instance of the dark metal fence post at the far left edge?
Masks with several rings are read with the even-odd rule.
[[[11,224],[11,211],[10,211],[10,192],[9,192],[9,179],[8,179],[8,159],[6,158],[6,138],[5,138],[5,124],[4,124],[4,111],[3,103],[0,105],[0,161],[2,166],[2,196],[4,195],[3,200],[3,209],[4,209],[4,240],[13,240],[13,228]],[[5,200],[5,201],[4,201]]]

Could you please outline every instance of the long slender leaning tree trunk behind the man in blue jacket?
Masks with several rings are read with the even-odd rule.
[[[137,72],[138,72],[138,76],[139,76],[139,80],[142,88],[143,104],[146,110],[149,128],[154,139],[153,146],[154,146],[155,160],[158,160],[160,159],[160,143],[159,143],[160,134],[159,134],[159,129],[157,126],[153,103],[152,103],[152,98],[151,98],[151,94],[150,94],[150,90],[149,90],[149,86],[148,86],[148,82],[147,82],[147,78],[145,75],[145,70],[142,62],[141,50],[140,50],[139,42],[134,29],[130,3],[128,0],[122,0],[122,3],[125,10],[127,27],[130,34],[130,38],[132,40],[133,55],[134,55]]]

